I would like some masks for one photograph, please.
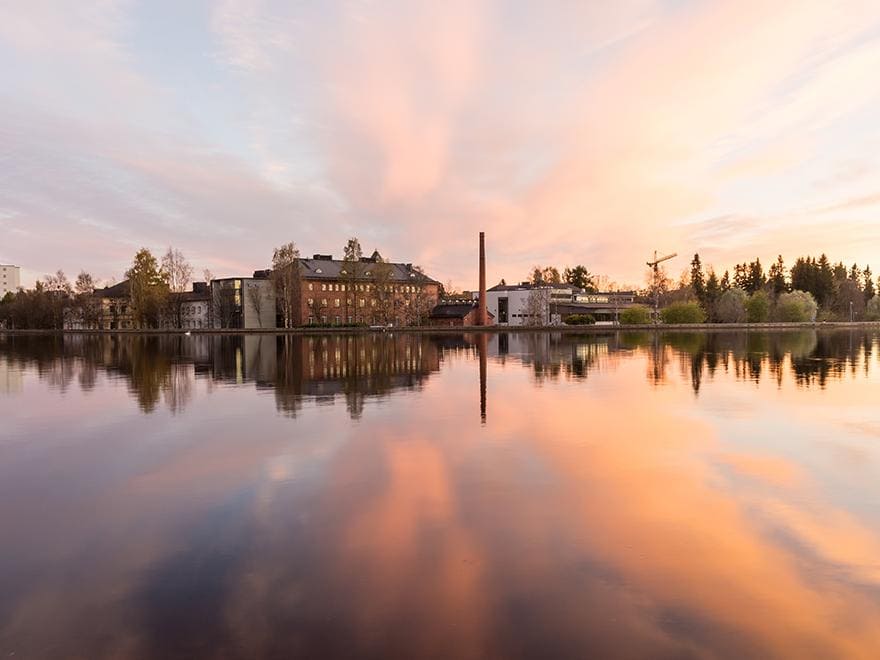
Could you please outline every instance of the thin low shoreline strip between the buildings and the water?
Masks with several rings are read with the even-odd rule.
[[[127,330],[11,330],[0,329],[0,336],[13,335],[158,335],[158,336],[211,336],[211,335],[383,335],[383,334],[501,334],[555,332],[561,334],[608,334],[613,332],[767,332],[779,330],[840,330],[880,329],[880,321],[826,321],[812,323],[682,323],[676,325],[543,325],[543,326],[421,326],[399,328],[201,328],[181,329],[127,329]]]

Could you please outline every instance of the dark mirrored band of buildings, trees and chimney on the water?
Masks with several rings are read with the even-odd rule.
[[[253,384],[271,390],[279,412],[296,416],[307,402],[344,401],[357,419],[370,399],[419,390],[446,357],[477,362],[480,417],[487,419],[492,364],[515,362],[536,381],[585,380],[641,358],[655,386],[671,378],[699,394],[717,373],[783,387],[824,388],[868,374],[878,336],[869,331],[553,332],[351,335],[64,335],[0,336],[0,395],[22,388],[31,369],[52,389],[91,391],[99,378],[123,381],[144,412],[164,404],[183,411],[197,381]],[[475,390],[475,397],[477,391]]]

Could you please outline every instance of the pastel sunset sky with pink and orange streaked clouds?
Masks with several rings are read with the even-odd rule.
[[[880,3],[0,0],[0,262],[880,271]]]

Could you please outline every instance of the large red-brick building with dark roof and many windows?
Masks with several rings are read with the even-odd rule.
[[[297,268],[294,325],[421,325],[440,298],[440,282],[378,252],[358,261],[316,254]]]

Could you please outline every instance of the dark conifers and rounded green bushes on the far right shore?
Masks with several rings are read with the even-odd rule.
[[[880,320],[880,281],[870,266],[832,264],[825,254],[799,257],[789,270],[782,256],[764,270],[760,259],[718,277],[699,254],[677,288],[663,285],[667,323],[764,323]]]

